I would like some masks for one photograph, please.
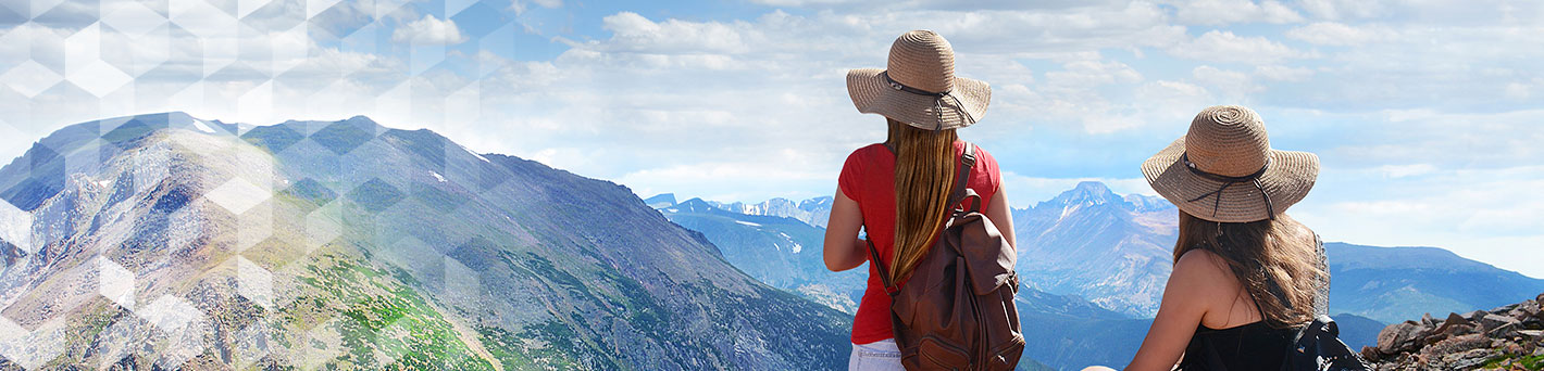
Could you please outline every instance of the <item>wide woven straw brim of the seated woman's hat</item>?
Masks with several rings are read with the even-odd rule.
[[[1221,196],[1203,194],[1217,191],[1223,182],[1210,180],[1195,172],[1180,160],[1184,154],[1184,137],[1143,162],[1143,175],[1153,191],[1172,202],[1186,214],[1221,223],[1248,223],[1271,219],[1286,212],[1303,200],[1319,179],[1319,155],[1299,151],[1271,149],[1271,165],[1260,175],[1260,186],[1271,197],[1271,206],[1252,183],[1234,183]],[[1197,200],[1197,197],[1201,197]],[[1192,202],[1194,200],[1194,202]],[[1221,205],[1217,202],[1221,200]],[[1215,214],[1214,214],[1215,206]]]

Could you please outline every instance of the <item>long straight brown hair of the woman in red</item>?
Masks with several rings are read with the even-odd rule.
[[[943,229],[954,185],[954,129],[928,131],[889,120],[885,145],[896,151],[896,254],[891,282],[911,274]]]

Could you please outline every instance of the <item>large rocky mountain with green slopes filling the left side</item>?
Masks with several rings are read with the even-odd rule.
[[[366,117],[150,114],[0,168],[0,369],[841,368],[851,317],[630,189]]]

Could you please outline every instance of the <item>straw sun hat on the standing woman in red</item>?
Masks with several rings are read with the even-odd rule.
[[[954,48],[933,31],[911,31],[889,46],[886,69],[848,71],[858,112],[929,129],[970,126],[987,114],[991,86],[954,75]]]

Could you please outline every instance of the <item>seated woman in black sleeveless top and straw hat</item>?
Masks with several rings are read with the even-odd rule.
[[[1280,368],[1329,288],[1319,237],[1283,214],[1314,186],[1319,157],[1271,149],[1249,108],[1212,106],[1143,174],[1180,208],[1180,240],[1158,317],[1126,369]]]

